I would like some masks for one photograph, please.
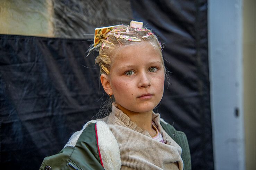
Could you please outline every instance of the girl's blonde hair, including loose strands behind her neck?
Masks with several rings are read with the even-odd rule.
[[[147,28],[133,28],[127,25],[120,25],[112,29],[108,34],[106,34],[105,39],[102,40],[102,43],[95,46],[92,44],[88,49],[88,55],[94,50],[99,52],[99,55],[95,59],[95,64],[100,66],[100,74],[110,74],[112,60],[115,59],[118,53],[118,49],[123,46],[136,45],[141,41],[146,41],[156,50],[157,53],[161,56],[162,64],[164,68],[165,75],[167,75],[163,55],[162,55],[162,46],[154,32]],[[87,55],[87,56],[88,56]],[[167,77],[168,78],[168,77]],[[169,83],[169,82],[168,82]],[[97,118],[102,118],[107,116],[111,110],[111,103],[114,102],[114,96],[104,101],[101,105],[101,108],[97,114]]]

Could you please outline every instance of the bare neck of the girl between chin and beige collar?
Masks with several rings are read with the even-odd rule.
[[[127,110],[118,103],[117,107],[127,116],[129,116],[130,121],[136,123],[139,128],[148,131],[151,136],[156,134],[156,131],[152,128],[152,110],[144,113],[138,113]]]

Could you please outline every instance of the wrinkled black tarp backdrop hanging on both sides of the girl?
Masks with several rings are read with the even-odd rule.
[[[133,19],[147,23],[165,43],[172,73],[157,111],[187,134],[192,168],[213,169],[207,1],[130,4]],[[2,168],[38,169],[97,113],[105,98],[99,70],[87,68],[98,68],[95,55],[85,58],[88,46],[86,39],[0,35]]]

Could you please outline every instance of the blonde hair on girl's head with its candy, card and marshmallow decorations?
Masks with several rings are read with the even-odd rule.
[[[142,22],[131,21],[131,26],[118,25],[112,28],[104,27],[95,29],[94,46],[89,48],[88,51],[89,53],[93,50],[99,51],[95,63],[100,65],[101,74],[108,75],[110,73],[112,60],[117,56],[120,47],[136,45],[141,41],[147,41],[152,45],[152,47],[160,54],[164,66],[160,41],[155,36],[154,32],[147,28],[143,28],[142,25]],[[109,29],[109,32],[105,32],[106,29]],[[99,33],[104,33],[104,36]],[[99,40],[96,35],[101,39]]]

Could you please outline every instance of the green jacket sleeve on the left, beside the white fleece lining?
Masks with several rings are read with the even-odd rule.
[[[40,170],[104,169],[97,147],[95,123],[91,123],[80,134],[74,147],[65,147],[58,154],[46,157]]]

